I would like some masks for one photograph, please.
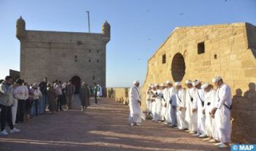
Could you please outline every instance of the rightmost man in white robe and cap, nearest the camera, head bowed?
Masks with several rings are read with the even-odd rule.
[[[230,109],[232,105],[231,88],[226,85],[222,77],[214,77],[212,80],[218,88],[216,94],[216,104],[211,110],[211,116],[214,117],[219,142],[216,145],[220,148],[229,147],[231,135]]]

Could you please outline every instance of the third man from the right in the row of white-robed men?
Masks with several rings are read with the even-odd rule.
[[[193,103],[192,112],[197,111],[197,133],[193,134],[193,136],[199,136],[200,138],[203,138],[203,137],[206,137],[206,133],[205,133],[206,115],[203,114],[204,91],[203,89],[201,89],[201,83],[198,79],[193,81],[192,85],[196,88],[195,103]]]

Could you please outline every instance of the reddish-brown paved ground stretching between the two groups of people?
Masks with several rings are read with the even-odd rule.
[[[98,105],[39,115],[17,126],[20,133],[0,136],[0,151],[68,150],[219,150],[183,131],[143,121],[129,126],[129,108],[102,98]],[[226,149],[230,150],[230,149]]]

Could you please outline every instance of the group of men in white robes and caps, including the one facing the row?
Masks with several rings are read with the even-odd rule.
[[[229,147],[232,108],[231,89],[222,77],[214,77],[214,85],[200,80],[187,80],[187,89],[181,82],[150,84],[146,91],[146,112],[157,123],[198,136],[220,148]],[[129,123],[140,125],[140,90],[138,81],[129,91]]]

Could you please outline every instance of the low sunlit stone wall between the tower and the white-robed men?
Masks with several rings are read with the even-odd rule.
[[[113,101],[121,104],[129,103],[129,88],[106,88],[107,98],[112,98]]]

